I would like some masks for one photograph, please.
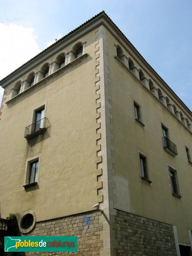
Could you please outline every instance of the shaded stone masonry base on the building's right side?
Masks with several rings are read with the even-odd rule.
[[[116,256],[177,256],[172,225],[117,210]]]

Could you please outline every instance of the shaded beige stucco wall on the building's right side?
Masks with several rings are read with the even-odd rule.
[[[185,239],[190,244],[187,230],[192,229],[192,166],[188,164],[185,145],[192,152],[192,134],[116,61],[114,44],[117,41],[110,33],[108,42],[116,183],[114,208],[175,225],[179,242],[184,243]],[[130,54],[125,49],[124,53]],[[133,100],[141,106],[144,128],[135,122]],[[177,145],[176,157],[163,149],[161,123],[169,128],[170,140]],[[138,151],[147,157],[151,186],[141,181]],[[181,199],[172,195],[167,164],[177,169]]]

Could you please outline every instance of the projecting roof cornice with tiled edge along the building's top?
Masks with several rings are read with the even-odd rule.
[[[4,79],[0,81],[0,86],[5,88],[13,81],[20,78],[20,76],[25,73],[30,72],[35,66],[41,64],[46,61],[49,57],[54,55],[56,52],[59,52],[67,45],[73,43],[78,40],[88,32],[92,31],[96,27],[105,26],[105,28],[111,32],[111,34],[116,38],[119,44],[126,49],[127,52],[130,53],[131,57],[140,65],[140,67],[151,76],[160,88],[164,90],[164,92],[169,96],[173,102],[177,102],[180,109],[186,113],[186,115],[192,119],[192,112],[190,109],[182,102],[182,100],[175,94],[175,92],[169,87],[168,84],[158,75],[158,73],[148,64],[148,62],[143,58],[140,52],[134,47],[133,44],[126,38],[126,36],[122,33],[122,31],[113,23],[113,21],[108,17],[108,15],[102,11],[98,15],[92,17],[90,20],[87,20],[81,26],[77,27],[60,40],[56,41],[54,44],[46,48],[44,51],[40,52],[34,58],[27,61],[21,67],[17,68],[11,74],[6,76]],[[179,103],[179,104],[178,104]]]

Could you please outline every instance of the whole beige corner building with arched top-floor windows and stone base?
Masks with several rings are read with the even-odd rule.
[[[0,85],[0,223],[73,256],[192,255],[192,112],[105,12]]]

